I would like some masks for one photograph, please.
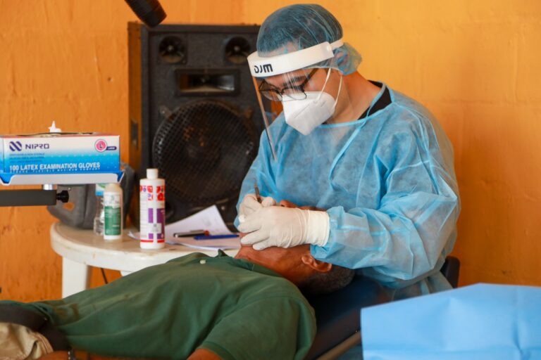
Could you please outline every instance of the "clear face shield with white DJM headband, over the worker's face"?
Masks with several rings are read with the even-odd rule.
[[[343,95],[342,74],[332,68],[310,68],[333,58],[333,49],[342,41],[328,42],[278,56],[248,57],[270,148],[275,141],[270,125],[285,117],[285,122],[303,135],[309,135],[335,113],[338,96]]]

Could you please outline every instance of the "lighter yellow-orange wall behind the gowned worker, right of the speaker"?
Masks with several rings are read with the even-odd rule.
[[[363,56],[361,74],[416,98],[447,131],[462,200],[461,284],[541,285],[541,2],[319,4]],[[244,11],[262,21],[275,7]]]

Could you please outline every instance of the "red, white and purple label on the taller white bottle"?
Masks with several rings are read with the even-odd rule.
[[[165,184],[139,186],[142,243],[164,243],[166,227]]]

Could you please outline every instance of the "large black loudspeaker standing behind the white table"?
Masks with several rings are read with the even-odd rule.
[[[258,31],[128,24],[130,165],[137,184],[148,167],[166,179],[168,222],[216,204],[232,226],[264,129],[247,64]]]

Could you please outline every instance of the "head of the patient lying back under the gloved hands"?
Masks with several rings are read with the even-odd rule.
[[[280,206],[295,205],[282,201]],[[251,245],[243,245],[236,258],[247,259],[276,271],[307,294],[331,293],[349,284],[354,276],[352,269],[314,259],[310,253],[310,245],[294,248],[272,247],[265,250],[254,250]]]

